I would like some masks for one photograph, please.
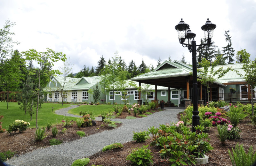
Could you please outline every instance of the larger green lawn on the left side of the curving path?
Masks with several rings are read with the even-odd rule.
[[[52,112],[53,107],[53,112]],[[56,115],[54,113],[55,110],[69,107],[67,104],[56,104],[56,103],[43,103],[42,108],[38,110],[38,125],[39,127],[46,126],[47,122],[52,122],[56,124],[56,119],[58,119],[58,123],[61,122],[61,119],[64,116]],[[95,107],[95,106],[94,106]],[[9,124],[14,122],[16,119],[24,120],[30,123],[30,128],[36,127],[36,109],[35,114],[32,115],[32,120],[30,121],[30,115],[19,108],[17,102],[9,102],[9,108],[7,109],[7,102],[0,102],[0,115],[3,115],[2,119],[2,127],[4,129],[8,128]],[[75,117],[69,117],[70,120],[75,120]]]

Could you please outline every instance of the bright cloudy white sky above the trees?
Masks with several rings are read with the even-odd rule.
[[[193,2],[193,3],[192,3]],[[196,33],[199,44],[207,18],[217,27],[212,41],[220,50],[227,46],[225,30],[230,30],[232,46],[246,49],[256,57],[256,0],[197,1],[14,1],[0,0],[0,28],[5,20],[16,22],[11,32],[21,44],[14,49],[45,51],[51,48],[70,57],[73,73],[86,66],[97,66],[100,57],[108,60],[118,51],[128,65],[156,67],[169,55],[180,60],[192,56],[178,41],[174,26],[181,18]],[[61,63],[56,63],[58,68]]]

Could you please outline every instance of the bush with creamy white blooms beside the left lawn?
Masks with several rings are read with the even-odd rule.
[[[12,132],[16,133],[19,129],[19,132],[23,132],[29,128],[30,123],[25,122],[24,120],[15,120],[12,124],[9,124],[7,132],[12,134]]]

